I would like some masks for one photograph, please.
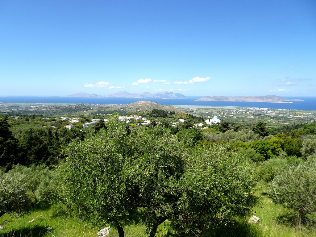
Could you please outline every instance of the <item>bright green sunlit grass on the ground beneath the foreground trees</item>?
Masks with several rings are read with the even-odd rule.
[[[203,237],[316,237],[314,227],[303,227],[298,231],[293,224],[293,215],[280,205],[276,205],[265,193],[265,183],[259,183],[256,195],[260,197],[259,203],[254,207],[252,215],[260,218],[259,224],[250,224],[247,218],[236,218],[226,226],[210,229]],[[62,215],[62,206],[38,205],[30,214],[17,217],[5,214],[0,217],[0,237],[92,237],[97,236],[100,228],[76,219],[73,216]],[[9,222],[3,222],[3,221]],[[34,220],[33,222],[29,222]],[[52,230],[46,228],[52,227]],[[105,226],[104,226],[105,227]],[[146,226],[143,223],[131,223],[124,228],[126,237],[147,237]],[[168,221],[159,226],[156,236],[182,237],[172,230]],[[111,227],[110,237],[118,237],[115,227]]]

